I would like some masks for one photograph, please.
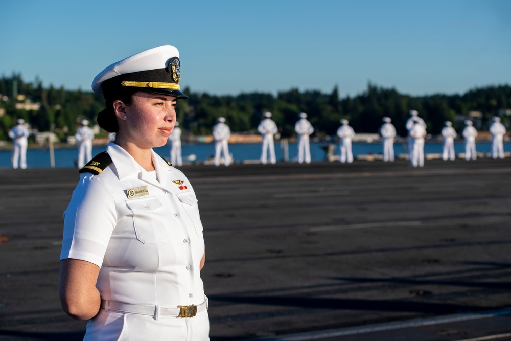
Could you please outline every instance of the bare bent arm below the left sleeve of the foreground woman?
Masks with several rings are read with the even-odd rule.
[[[99,270],[98,265],[79,259],[60,261],[60,303],[73,319],[85,321],[98,314],[101,304],[96,288]]]

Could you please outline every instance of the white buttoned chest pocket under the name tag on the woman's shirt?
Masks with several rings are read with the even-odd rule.
[[[144,244],[165,243],[172,239],[169,226],[165,223],[163,204],[155,197],[126,200],[132,212],[133,229],[136,239]]]

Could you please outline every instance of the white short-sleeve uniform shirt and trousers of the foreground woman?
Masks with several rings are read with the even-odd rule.
[[[60,259],[100,266],[96,286],[103,300],[159,307],[201,304],[204,240],[187,177],[154,151],[155,172],[143,170],[113,142],[106,151],[112,164],[99,175],[82,173],[64,212]],[[148,194],[129,198],[127,191],[139,187]],[[207,311],[192,318],[155,319],[100,309],[84,339],[207,340],[208,330]]]

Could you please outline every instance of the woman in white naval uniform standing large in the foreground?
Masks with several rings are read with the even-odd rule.
[[[64,212],[59,293],[90,320],[84,340],[208,340],[200,269],[204,240],[195,192],[153,147],[176,122],[179,52],[161,46],[107,67],[92,89],[116,132],[81,170]]]

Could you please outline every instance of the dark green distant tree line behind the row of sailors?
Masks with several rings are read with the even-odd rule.
[[[317,90],[300,92],[290,89],[276,96],[265,93],[248,93],[236,96],[214,96],[195,93],[190,88],[183,92],[190,96],[187,101],[178,101],[177,116],[181,127],[194,135],[211,134],[216,119],[226,118],[231,131],[256,132],[262,113],[270,111],[272,119],[280,128],[281,136],[293,137],[294,124],[300,112],[306,112],[315,127],[315,136],[324,138],[335,135],[339,120],[345,118],[356,132],[376,133],[382,118],[388,116],[399,135],[405,136],[405,122],[409,110],[419,111],[427,124],[428,133],[438,134],[444,122],[454,123],[461,131],[463,119],[470,112],[480,112],[477,125],[487,129],[493,116],[502,116],[509,125],[511,108],[511,86],[499,85],[475,88],[463,95],[431,95],[413,97],[400,94],[396,89],[383,88],[369,83],[360,95],[340,98],[337,86],[330,94]],[[62,140],[74,134],[81,119],[96,121],[104,108],[102,95],[81,90],[66,90],[42,82],[24,82],[20,74],[0,78],[0,140],[7,139],[8,130],[16,119],[23,118],[39,131],[54,131]],[[15,98],[15,95],[18,98]],[[6,97],[9,99],[6,100]],[[31,101],[40,103],[38,110],[16,108],[16,103]],[[19,107],[19,105],[18,105]],[[507,111],[506,111],[507,109]],[[503,115],[507,113],[507,115]],[[106,132],[103,132],[106,136]]]

